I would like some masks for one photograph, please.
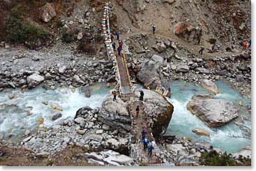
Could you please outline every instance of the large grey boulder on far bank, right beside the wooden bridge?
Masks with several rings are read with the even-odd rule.
[[[159,65],[153,60],[144,61],[136,76],[146,88],[158,90],[158,92],[165,93],[163,95],[170,97],[170,83],[159,74]]]

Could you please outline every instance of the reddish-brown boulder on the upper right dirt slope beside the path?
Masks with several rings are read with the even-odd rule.
[[[193,44],[199,44],[202,37],[202,28],[200,26],[191,26],[184,22],[178,22],[174,25],[174,34]]]

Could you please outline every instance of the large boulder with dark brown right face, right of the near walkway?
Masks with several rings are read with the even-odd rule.
[[[149,122],[153,123],[153,137],[156,138],[156,140],[159,140],[161,134],[166,131],[169,122],[172,119],[174,106],[157,92],[146,89],[142,89],[142,91],[144,92],[144,112],[146,113]],[[135,99],[139,99],[139,89],[135,90],[134,97]],[[133,101],[131,101],[131,103],[133,103]]]

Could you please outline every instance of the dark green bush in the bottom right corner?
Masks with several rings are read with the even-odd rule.
[[[250,165],[250,158],[242,158],[239,157],[239,162],[232,158],[232,154],[218,154],[215,150],[211,150],[210,152],[204,152],[199,159],[199,163],[201,165],[209,165],[209,166],[246,166]]]

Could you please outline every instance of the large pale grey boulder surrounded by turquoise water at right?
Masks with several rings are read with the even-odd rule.
[[[192,99],[188,102],[187,108],[209,127],[220,127],[239,116],[233,102],[223,99]]]

